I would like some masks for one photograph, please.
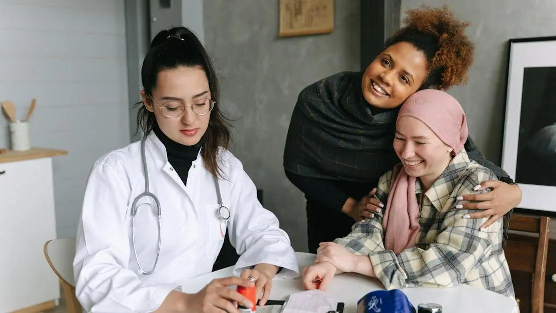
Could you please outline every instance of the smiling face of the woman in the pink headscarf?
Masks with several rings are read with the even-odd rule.
[[[429,188],[451,161],[448,145],[415,117],[403,116],[396,123],[394,150],[409,176],[419,177]]]

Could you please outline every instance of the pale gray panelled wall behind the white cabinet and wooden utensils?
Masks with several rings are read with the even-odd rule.
[[[53,158],[58,237],[75,236],[93,162],[129,143],[123,0],[0,1],[0,101],[31,102],[31,145]],[[9,147],[0,118],[0,148]],[[1,191],[0,191],[1,193]]]

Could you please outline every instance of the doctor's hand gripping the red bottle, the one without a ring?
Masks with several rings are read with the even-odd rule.
[[[185,312],[212,313],[224,310],[229,313],[239,313],[234,301],[252,307],[253,304],[249,299],[236,290],[227,288],[234,285],[251,287],[252,282],[240,277],[215,279],[196,294],[187,294]]]

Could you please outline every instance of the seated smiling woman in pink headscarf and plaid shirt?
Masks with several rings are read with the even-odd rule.
[[[335,274],[377,277],[386,289],[468,284],[514,298],[502,248],[503,220],[480,229],[487,218],[458,200],[484,193],[496,179],[463,148],[468,137],[458,101],[439,90],[416,92],[396,120],[394,150],[401,163],[380,177],[375,197],[384,213],[356,223],[349,235],[324,242],[314,265],[302,271],[306,289],[324,290]]]

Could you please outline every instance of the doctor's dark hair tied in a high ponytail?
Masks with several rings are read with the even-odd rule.
[[[199,39],[185,27],[176,27],[159,32],[152,39],[151,47],[141,67],[141,82],[145,90],[146,101],[152,101],[152,91],[156,89],[158,73],[165,69],[177,67],[200,67],[205,71],[209,81],[211,98],[215,101],[210,113],[209,127],[203,135],[201,156],[205,166],[212,175],[222,176],[219,166],[219,147],[227,148],[230,142],[230,123],[220,111],[219,83],[209,54]],[[145,135],[156,123],[155,114],[148,111],[143,102],[136,103],[137,131],[139,127]]]

